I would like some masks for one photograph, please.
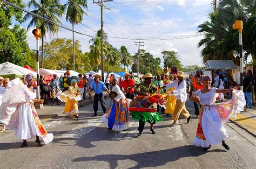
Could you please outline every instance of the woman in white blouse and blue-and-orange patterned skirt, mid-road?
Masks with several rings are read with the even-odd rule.
[[[102,122],[107,124],[108,130],[123,131],[129,127],[130,117],[126,97],[117,85],[117,79],[112,81],[111,99],[113,105],[107,114],[102,116]]]

